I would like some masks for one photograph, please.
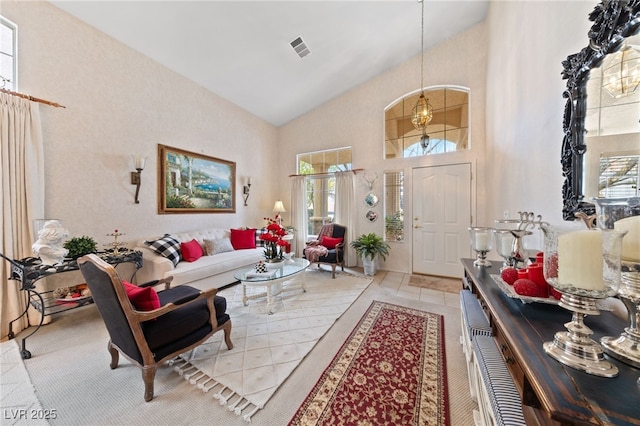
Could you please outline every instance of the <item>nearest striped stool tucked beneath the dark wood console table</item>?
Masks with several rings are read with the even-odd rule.
[[[522,400],[493,337],[473,340],[475,373],[478,376],[480,424],[526,426]],[[475,415],[474,415],[475,419]],[[478,424],[478,419],[476,424]]]

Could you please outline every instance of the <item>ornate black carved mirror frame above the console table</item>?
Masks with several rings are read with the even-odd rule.
[[[595,206],[583,200],[583,161],[585,145],[584,120],[587,109],[589,71],[597,68],[608,53],[618,50],[624,39],[640,30],[640,0],[602,0],[589,14],[593,26],[589,30],[589,45],[569,55],[562,62],[562,78],[567,88],[564,108],[564,138],[562,141],[562,185],[564,220],[575,220],[577,212],[595,214]]]

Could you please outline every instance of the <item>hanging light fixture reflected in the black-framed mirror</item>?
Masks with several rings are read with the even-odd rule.
[[[614,98],[632,95],[640,86],[640,48],[626,44],[607,58],[602,85]]]

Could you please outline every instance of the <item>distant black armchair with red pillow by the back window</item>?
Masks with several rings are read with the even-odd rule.
[[[323,225],[318,239],[307,242],[302,256],[311,263],[321,263],[331,266],[331,278],[336,277],[336,267],[339,265],[344,271],[344,248],[346,244],[347,228],[330,223]]]

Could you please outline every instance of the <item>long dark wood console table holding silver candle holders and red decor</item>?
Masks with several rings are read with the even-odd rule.
[[[619,368],[615,378],[602,378],[567,367],[548,356],[542,344],[553,340],[571,320],[571,312],[557,305],[524,304],[505,295],[491,278],[490,268],[462,259],[463,286],[476,294],[520,392],[527,424],[640,425],[640,369],[610,360]],[[611,312],[585,319],[592,338],[618,336],[628,323]]]

